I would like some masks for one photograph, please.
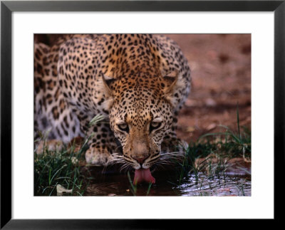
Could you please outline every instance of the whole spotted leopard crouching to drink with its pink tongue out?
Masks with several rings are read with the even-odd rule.
[[[136,182],[179,155],[177,116],[191,89],[187,58],[160,34],[72,34],[34,43],[34,136],[90,137],[86,163],[122,164]],[[96,115],[103,121],[90,125]],[[55,148],[56,145],[51,145]],[[181,152],[181,151],[180,151]]]

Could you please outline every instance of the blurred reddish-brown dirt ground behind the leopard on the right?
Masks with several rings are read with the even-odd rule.
[[[169,34],[192,69],[192,90],[178,118],[178,137],[195,142],[207,132],[251,127],[251,35]]]

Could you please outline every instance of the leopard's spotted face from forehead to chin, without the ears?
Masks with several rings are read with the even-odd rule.
[[[138,84],[117,88],[122,90],[114,93],[110,127],[123,147],[125,162],[134,169],[148,169],[160,159],[160,145],[171,131],[172,106],[158,90],[142,90]]]

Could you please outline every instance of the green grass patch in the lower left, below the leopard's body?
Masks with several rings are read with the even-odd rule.
[[[38,196],[56,195],[56,186],[60,184],[72,189],[71,195],[81,196],[86,189],[86,178],[81,174],[78,161],[83,148],[78,152],[71,149],[34,153],[34,194]]]

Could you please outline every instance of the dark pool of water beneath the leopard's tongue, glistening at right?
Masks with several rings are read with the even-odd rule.
[[[95,170],[96,171],[96,170]],[[251,176],[237,170],[207,175],[189,174],[177,179],[177,172],[153,172],[155,184],[133,187],[133,173],[91,172],[94,179],[86,189],[86,196],[251,196]]]

